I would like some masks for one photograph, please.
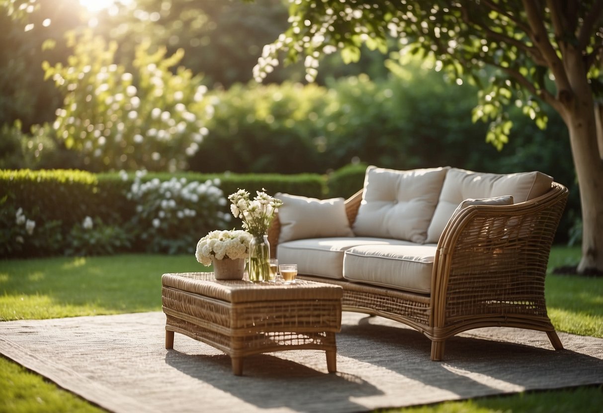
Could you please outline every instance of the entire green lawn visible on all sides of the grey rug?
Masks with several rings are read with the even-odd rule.
[[[579,248],[555,247],[549,269],[576,264]],[[192,255],[117,255],[0,261],[0,320],[161,310],[161,275],[209,270]],[[552,275],[546,299],[558,331],[603,338],[603,279]],[[388,412],[599,412],[603,387],[527,392]],[[0,412],[102,409],[0,357]]]

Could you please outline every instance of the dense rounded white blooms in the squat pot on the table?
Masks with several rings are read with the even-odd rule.
[[[197,243],[195,256],[201,264],[209,266],[214,259],[247,258],[251,234],[241,229],[212,231]]]

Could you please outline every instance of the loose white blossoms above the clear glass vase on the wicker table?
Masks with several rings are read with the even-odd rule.
[[[250,200],[244,189],[230,194],[230,211],[243,221],[243,228],[253,235],[266,234],[274,218],[274,211],[283,205],[282,200],[271,197],[265,192],[256,191],[257,196]]]

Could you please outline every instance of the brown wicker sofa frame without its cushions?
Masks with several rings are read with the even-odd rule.
[[[352,229],[362,204],[367,202],[366,191],[367,181],[362,190],[344,201],[344,211]],[[443,192],[438,202],[442,202]],[[379,315],[417,329],[432,341],[431,359],[434,361],[443,359],[447,338],[459,332],[490,326],[546,332],[554,349],[560,350],[563,345],[546,311],[545,276],[552,241],[566,200],[567,188],[551,178],[545,193],[524,202],[512,205],[478,203],[460,210],[457,208],[433,246],[428,293],[389,288],[374,282],[350,281],[344,274],[340,278],[317,275],[310,270],[311,274],[308,274],[305,273],[305,265],[300,266],[298,276],[341,285],[344,289],[343,311]],[[284,206],[286,203],[282,208]],[[279,214],[269,229],[268,237],[272,255],[281,259],[279,254],[285,251],[281,247],[287,242],[279,240],[283,235]],[[327,244],[327,249],[329,240],[341,239],[319,235],[313,240]],[[355,238],[358,235],[353,234],[350,239]],[[298,243],[306,241],[297,240]],[[389,246],[386,240],[385,247],[391,249],[396,246]],[[344,264],[349,259],[352,265],[352,255],[347,255],[350,250],[340,251]],[[292,259],[288,251],[286,260]],[[360,261],[355,262],[358,264]],[[403,269],[400,265],[399,278],[405,277]]]

